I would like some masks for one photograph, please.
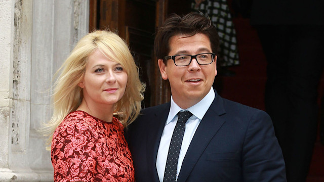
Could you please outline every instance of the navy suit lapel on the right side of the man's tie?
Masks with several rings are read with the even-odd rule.
[[[220,117],[225,114],[223,100],[215,90],[215,99],[206,112],[203,119],[192,138],[190,146],[187,150],[185,158],[182,162],[181,170],[177,182],[186,181],[194,165],[205,151],[209,142],[215,136],[219,128],[225,123]]]

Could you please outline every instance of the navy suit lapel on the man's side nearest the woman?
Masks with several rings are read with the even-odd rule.
[[[154,181],[157,182],[159,181],[156,170],[157,150],[169,111],[170,103],[157,107],[155,113],[152,115],[153,117],[151,118],[147,131],[147,161],[149,170],[152,170],[150,173],[154,175]]]

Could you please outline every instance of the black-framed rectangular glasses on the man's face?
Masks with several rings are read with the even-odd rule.
[[[196,59],[199,65],[208,65],[213,63],[215,55],[215,53],[201,53],[197,55],[174,55],[166,56],[164,57],[164,59],[172,59],[176,66],[188,66],[193,58]]]

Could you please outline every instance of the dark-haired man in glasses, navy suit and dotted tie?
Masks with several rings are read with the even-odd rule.
[[[154,51],[172,97],[128,129],[136,181],[286,181],[270,117],[212,87],[218,43],[214,25],[197,13],[172,15],[158,29]]]

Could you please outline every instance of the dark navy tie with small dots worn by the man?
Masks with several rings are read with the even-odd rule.
[[[178,112],[176,127],[173,130],[163,182],[176,181],[178,158],[181,149],[185,124],[192,114],[189,111]]]

